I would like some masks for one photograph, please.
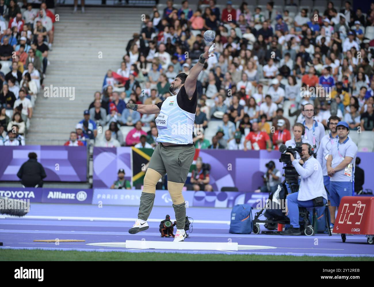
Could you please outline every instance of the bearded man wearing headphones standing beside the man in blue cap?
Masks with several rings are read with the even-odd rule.
[[[338,133],[336,130],[336,125],[338,124],[339,121],[340,121],[340,118],[336,115],[332,115],[331,117],[329,117],[327,121],[327,127],[329,128],[330,133],[328,133],[322,138],[321,144],[318,150],[319,152],[317,154],[317,160],[322,166],[322,172],[324,175],[324,185],[328,192],[330,192],[330,177],[327,174],[326,164],[327,164],[327,158],[328,158],[328,154],[331,149],[331,146],[339,140]],[[329,194],[327,194],[327,199],[328,199],[328,203],[330,204],[331,198]],[[329,205],[328,208],[330,211],[330,218],[331,220],[334,220],[336,207]],[[333,227],[334,227],[334,224],[333,222],[331,222],[330,228],[333,228]]]

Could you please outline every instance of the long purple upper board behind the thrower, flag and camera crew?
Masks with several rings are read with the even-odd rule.
[[[264,184],[263,175],[267,169],[265,164],[270,160],[283,173],[283,164],[279,162],[280,152],[261,151],[229,151],[215,149],[196,150],[204,163],[211,165],[210,182],[213,190],[221,190],[224,186],[236,186],[240,192],[253,192]],[[368,175],[374,162],[374,152],[359,152],[359,165]],[[93,186],[108,188],[117,179],[117,171],[124,168],[126,179],[131,177],[131,148],[95,148],[93,155]],[[364,191],[373,192],[374,177],[366,176]]]

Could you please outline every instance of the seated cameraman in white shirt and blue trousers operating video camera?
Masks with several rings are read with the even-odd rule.
[[[301,183],[298,192],[287,196],[288,218],[291,227],[280,232],[281,235],[301,235],[299,225],[299,207],[322,206],[327,203],[327,193],[324,186],[324,177],[321,164],[313,157],[313,149],[310,144],[303,143],[301,159],[303,166],[294,156],[291,157],[292,165],[301,176]]]

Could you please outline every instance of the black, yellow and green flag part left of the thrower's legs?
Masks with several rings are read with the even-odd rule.
[[[149,163],[153,149],[151,148],[134,148],[132,147],[132,184],[137,186],[143,184],[145,172],[142,170]],[[143,168],[144,169],[144,168]]]

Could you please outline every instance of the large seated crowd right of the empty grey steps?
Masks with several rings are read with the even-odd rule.
[[[126,103],[163,101],[175,76],[188,74],[212,43],[215,56],[197,81],[196,148],[278,149],[291,139],[294,123],[304,123],[306,104],[326,130],[337,115],[352,130],[373,131],[374,3],[365,14],[349,1],[321,10],[294,2],[236,8],[227,1],[220,9],[209,0],[192,10],[185,0],[153,7],[65,145],[95,138],[96,146],[157,145],[157,115]],[[211,43],[206,30],[216,33]]]

